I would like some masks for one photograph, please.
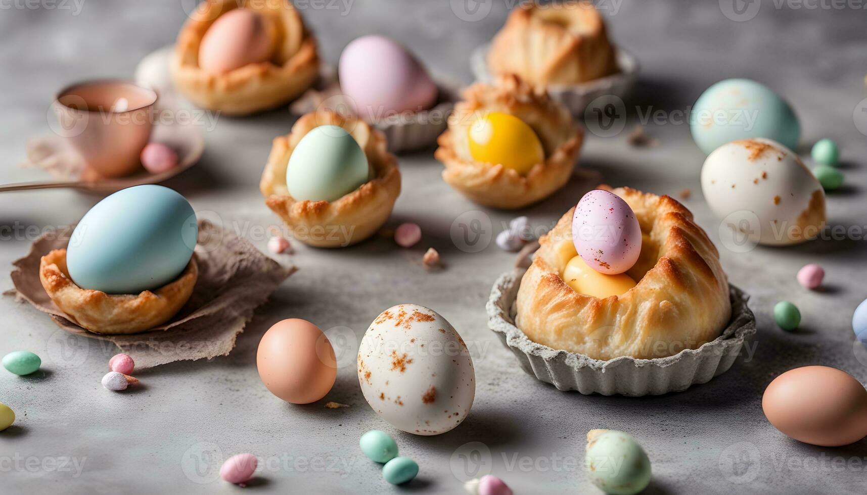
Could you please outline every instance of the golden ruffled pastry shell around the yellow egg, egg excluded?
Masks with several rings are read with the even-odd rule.
[[[533,88],[514,75],[499,78],[494,86],[473,84],[463,95],[434,153],[446,166],[442,178],[449,186],[479,205],[504,209],[531,205],[565,186],[583,142],[582,130],[565,107],[551,100],[544,89]],[[473,160],[467,132],[473,121],[488,112],[524,120],[542,141],[544,162],[521,175],[501,164]]]

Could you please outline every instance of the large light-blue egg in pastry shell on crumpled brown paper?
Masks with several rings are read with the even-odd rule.
[[[75,227],[66,251],[69,277],[108,294],[158,289],[190,263],[198,233],[192,206],[167,187],[115,192]]]

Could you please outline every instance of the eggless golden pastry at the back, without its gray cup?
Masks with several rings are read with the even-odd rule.
[[[617,72],[605,23],[590,2],[525,3],[506,19],[488,53],[494,75],[573,85]]]

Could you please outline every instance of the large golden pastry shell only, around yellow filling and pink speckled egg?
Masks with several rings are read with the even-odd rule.
[[[638,283],[622,296],[599,299],[563,281],[560,274],[575,252],[573,207],[539,241],[518,289],[518,329],[533,342],[600,360],[665,357],[713,341],[732,308],[710,238],[675,199],[629,188],[610,191],[629,204],[647,234],[638,262],[627,271]]]

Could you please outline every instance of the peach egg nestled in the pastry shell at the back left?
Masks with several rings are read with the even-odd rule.
[[[273,43],[268,20],[249,9],[234,9],[219,16],[202,37],[199,67],[224,74],[271,58]]]

